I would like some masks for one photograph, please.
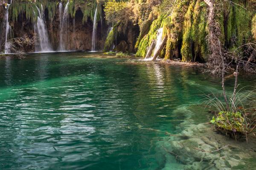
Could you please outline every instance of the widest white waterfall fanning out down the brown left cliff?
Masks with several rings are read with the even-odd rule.
[[[38,10],[38,19],[34,29],[39,38],[39,47],[40,47],[36,51],[44,51],[44,52],[52,51],[52,47],[49,42],[47,28],[44,20],[44,8],[42,4],[41,4],[41,10],[38,7],[36,8]]]

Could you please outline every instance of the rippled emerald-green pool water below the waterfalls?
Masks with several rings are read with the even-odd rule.
[[[0,169],[165,168],[160,142],[181,133],[185,120],[209,121],[211,114],[189,106],[221,92],[220,79],[125,61],[84,52],[0,58]],[[255,77],[239,80],[256,84]],[[177,111],[184,107],[189,113]],[[181,164],[170,157],[171,167]]]

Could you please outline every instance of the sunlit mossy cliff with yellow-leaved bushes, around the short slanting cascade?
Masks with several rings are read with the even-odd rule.
[[[204,0],[130,0],[126,4],[132,11],[130,20],[140,26],[135,45],[137,56],[145,57],[151,42],[156,40],[157,30],[163,28],[167,42],[160,57],[183,61],[207,60],[209,28]],[[215,8],[218,8],[215,20],[221,29],[224,48],[231,51],[255,40],[255,0],[217,0]],[[115,29],[108,36],[106,49],[113,43],[113,32]]]

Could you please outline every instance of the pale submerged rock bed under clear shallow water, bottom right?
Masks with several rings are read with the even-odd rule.
[[[168,137],[159,142],[160,152],[166,153],[164,169],[175,169],[177,163],[182,166],[177,169],[184,170],[248,169],[256,166],[256,162],[250,159],[256,156],[253,150],[256,142],[235,141],[218,133],[212,125],[193,123],[191,116],[194,113],[186,106],[174,112],[180,113],[182,110],[183,113],[190,113],[188,119],[181,124],[183,130],[175,135],[167,134]]]

